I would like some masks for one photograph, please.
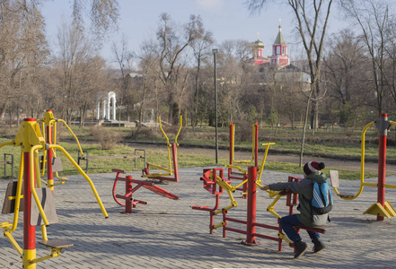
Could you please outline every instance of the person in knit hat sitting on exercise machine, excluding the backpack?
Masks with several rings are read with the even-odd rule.
[[[326,223],[329,218],[329,213],[317,214],[312,213],[312,189],[313,181],[318,183],[326,182],[326,175],[321,171],[324,169],[325,165],[323,162],[309,161],[304,165],[304,179],[299,182],[287,182],[287,183],[275,183],[275,184],[265,184],[260,187],[262,190],[274,190],[283,191],[291,190],[298,195],[299,205],[297,210],[300,212],[298,214],[292,214],[282,217],[279,220],[279,224],[285,231],[287,237],[293,241],[295,246],[295,258],[304,255],[305,250],[308,245],[301,239],[300,235],[293,228],[294,226],[322,226]],[[324,245],[319,240],[320,235],[318,232],[307,230],[313,243],[313,252],[317,253],[324,248]]]

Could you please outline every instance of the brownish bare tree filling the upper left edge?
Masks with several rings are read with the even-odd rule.
[[[31,117],[40,111],[36,98],[40,68],[46,62],[48,46],[40,1],[0,1],[0,117],[13,102],[16,114],[29,108]],[[23,99],[22,99],[23,97]],[[13,107],[14,108],[14,107]],[[11,110],[14,110],[11,108]],[[24,112],[28,112],[27,109]],[[10,111],[10,116],[12,113]]]

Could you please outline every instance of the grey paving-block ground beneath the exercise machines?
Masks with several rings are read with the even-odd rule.
[[[128,175],[140,179],[137,172]],[[277,252],[275,241],[260,239],[259,246],[247,247],[240,243],[245,239],[242,234],[228,231],[227,238],[223,238],[221,229],[209,234],[208,213],[190,208],[194,204],[213,206],[215,203],[214,196],[204,190],[199,180],[202,168],[180,169],[179,183],[160,185],[179,195],[180,200],[139,189],[134,197],[148,204],[139,204],[132,214],[120,213],[123,207],[112,198],[115,173],[89,176],[110,218],[102,216],[85,179],[71,176],[65,185],[56,187],[54,198],[59,221],[48,227],[48,239],[66,239],[75,246],[59,257],[40,262],[37,268],[389,268],[394,264],[396,221],[378,222],[375,216],[363,214],[376,201],[374,187],[365,187],[354,201],[336,197],[331,212],[333,230],[322,237],[326,248],[318,254],[308,251],[295,260],[293,249],[286,244],[282,252]],[[287,176],[264,171],[262,180],[286,181]],[[386,180],[396,184],[396,177]],[[0,180],[0,201],[4,201],[8,182]],[[123,194],[124,187],[119,185],[118,193]],[[343,191],[356,192],[359,182],[340,180],[340,186]],[[246,201],[240,193],[235,193],[235,197],[239,206],[228,215],[246,220]],[[387,189],[386,198],[396,204],[394,190]],[[275,225],[275,218],[265,210],[271,201],[265,192],[258,193],[258,222]],[[226,195],[220,203],[221,207],[229,204]],[[278,202],[276,211],[286,214],[285,199]],[[0,215],[0,222],[12,221],[12,217]],[[221,216],[215,221],[220,222]],[[40,229],[37,230],[40,240]],[[258,228],[258,232],[277,236],[274,230]],[[308,239],[304,231],[302,235]],[[13,237],[22,246],[22,220]],[[38,257],[48,254],[46,247],[37,245]],[[0,268],[22,268],[21,258],[4,237],[0,238]]]

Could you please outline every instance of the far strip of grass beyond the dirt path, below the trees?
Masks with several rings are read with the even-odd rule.
[[[71,126],[73,132],[77,135],[80,140],[93,139],[90,132],[90,128],[78,126]],[[119,128],[119,127],[106,127],[113,133],[117,133],[122,137],[122,142],[128,141],[141,141],[141,142],[157,142],[166,143],[166,139],[161,134],[160,129],[157,127],[153,128],[152,131],[158,135],[149,136],[133,136],[132,134],[136,129],[134,128]],[[177,128],[176,128],[177,129]],[[175,130],[176,130],[175,129]],[[238,134],[242,129],[241,125],[236,125],[235,134]],[[148,129],[147,129],[148,130]],[[173,141],[176,131],[173,129],[166,130],[170,141]],[[183,126],[182,128],[183,137],[178,139],[180,145],[183,143],[191,143],[197,145],[213,145],[215,139],[215,128],[209,126],[197,126],[195,132],[192,131],[190,126]],[[59,135],[60,141],[62,139],[73,139],[73,136],[66,130],[61,132]],[[246,149],[251,149],[251,129],[247,132],[249,137],[246,138],[246,142],[235,141],[235,146]],[[270,127],[261,127],[259,130],[261,143],[275,143],[270,149],[277,151],[292,151],[300,152],[300,140],[302,136],[302,129],[292,130],[291,128],[278,128],[277,133],[275,129]],[[304,145],[304,152],[316,152],[321,155],[336,155],[336,156],[356,156],[361,155],[361,130],[350,130],[342,129],[336,126],[334,130],[318,129],[315,134],[312,131],[306,133],[306,140]],[[218,144],[220,146],[229,145],[229,127],[218,128]],[[238,137],[238,135],[236,135]],[[378,157],[378,133],[374,127],[369,128],[365,134],[365,156],[370,158]],[[389,132],[388,134],[388,147],[387,147],[387,159],[396,159],[396,132]],[[393,145],[391,145],[393,144]]]

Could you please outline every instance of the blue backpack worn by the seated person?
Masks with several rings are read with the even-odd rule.
[[[327,182],[318,183],[313,181],[311,204],[314,213],[319,215],[330,213],[333,207],[333,198]]]

